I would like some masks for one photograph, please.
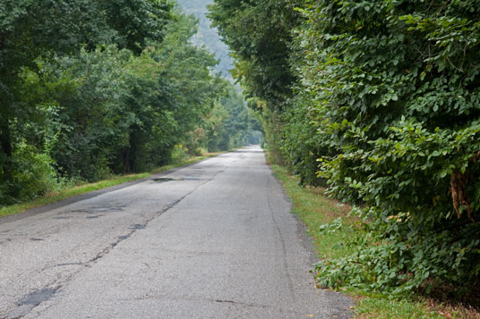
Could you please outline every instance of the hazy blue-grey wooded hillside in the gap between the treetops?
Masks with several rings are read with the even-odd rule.
[[[204,44],[210,48],[210,51],[219,59],[219,65],[216,70],[223,76],[231,79],[229,70],[233,68],[232,59],[228,55],[228,47],[219,38],[217,29],[210,28],[210,21],[207,19],[207,5],[211,0],[176,0],[184,9],[185,13],[193,14],[199,20],[199,32],[193,38],[195,43]]]

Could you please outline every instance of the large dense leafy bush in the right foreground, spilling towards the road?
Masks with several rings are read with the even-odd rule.
[[[480,278],[480,1],[315,1],[299,29],[321,177],[368,245],[328,286],[407,292]],[[468,282],[465,285],[465,282]]]

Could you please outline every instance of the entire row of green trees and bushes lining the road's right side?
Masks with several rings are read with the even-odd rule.
[[[270,157],[361,219],[327,287],[475,288],[480,1],[215,0]]]

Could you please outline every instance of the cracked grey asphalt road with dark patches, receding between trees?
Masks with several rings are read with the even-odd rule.
[[[0,219],[0,317],[350,315],[259,147],[66,203]]]

